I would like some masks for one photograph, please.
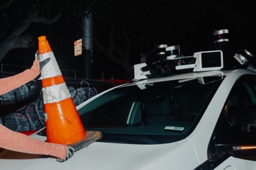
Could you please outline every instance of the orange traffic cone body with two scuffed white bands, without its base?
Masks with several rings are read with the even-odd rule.
[[[41,70],[47,141],[75,144],[85,140],[86,131],[62,77],[46,37],[38,37],[40,60],[51,60]]]

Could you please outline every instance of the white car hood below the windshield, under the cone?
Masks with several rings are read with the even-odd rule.
[[[22,155],[22,154],[21,154]],[[16,152],[17,157],[17,152]],[[186,139],[171,144],[134,145],[94,142],[87,148],[75,152],[63,163],[51,157],[33,155],[30,157],[1,156],[1,169],[5,170],[45,170],[45,169],[192,169],[198,165],[193,144]]]

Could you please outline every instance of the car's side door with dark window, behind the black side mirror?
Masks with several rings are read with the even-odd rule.
[[[236,112],[238,116],[228,117],[227,114],[229,108],[244,106],[253,108],[256,114],[255,75],[240,77],[231,89],[208,145],[208,161],[205,163],[208,165],[207,169],[256,169],[256,149],[251,149],[250,152],[234,151],[234,146],[256,146],[256,124],[251,124],[251,120],[247,118],[248,114],[239,110]]]

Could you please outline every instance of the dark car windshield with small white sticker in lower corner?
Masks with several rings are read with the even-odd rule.
[[[104,142],[160,144],[184,139],[197,125],[223,76],[127,85],[78,110]]]

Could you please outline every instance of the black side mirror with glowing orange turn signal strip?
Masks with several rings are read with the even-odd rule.
[[[229,106],[226,121],[240,132],[232,133],[228,141],[215,144],[217,151],[246,160],[256,160],[256,105]]]

